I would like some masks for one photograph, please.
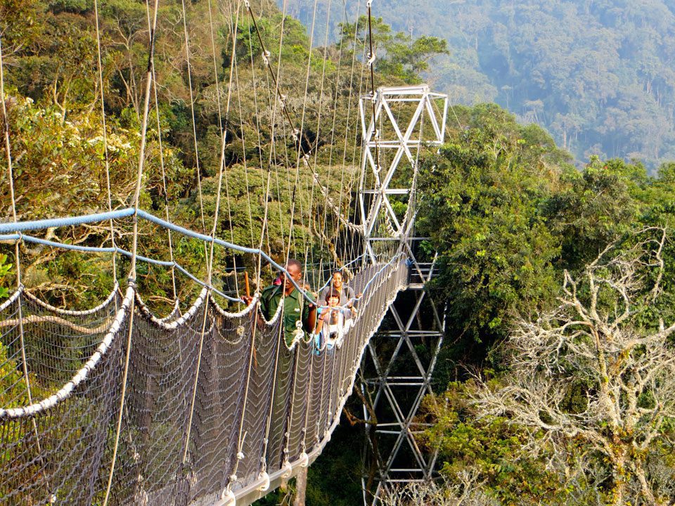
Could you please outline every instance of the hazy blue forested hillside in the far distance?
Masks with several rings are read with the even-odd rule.
[[[316,45],[327,7],[319,0]],[[288,11],[311,25],[314,2],[288,0]],[[341,11],[333,1],[332,37]],[[648,167],[675,159],[672,2],[375,0],[373,13],[394,30],[448,40],[451,55],[427,77],[456,103],[499,103],[546,127],[579,162],[593,154]]]

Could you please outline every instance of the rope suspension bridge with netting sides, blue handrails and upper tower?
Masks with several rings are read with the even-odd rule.
[[[371,1],[366,8],[370,20]],[[243,11],[255,26],[257,18],[248,1]],[[292,127],[295,168],[307,170],[312,188],[316,186],[324,197],[325,209],[359,245],[352,248],[351,257],[340,259],[354,271],[350,285],[363,294],[342,346],[318,351],[309,335],[298,335],[287,344],[283,304],[269,321],[263,318],[258,304],[261,266],[284,271],[284,261],[275,261],[280,256],[263,247],[264,223],[257,244],[243,246],[217,236],[221,183],[226,177],[225,129],[211,233],[173,223],[168,202],[164,218],[141,209],[143,146],[153,92],[157,104],[153,65],[157,16],[155,0],[152,8],[148,5],[149,63],[131,207],[113,209],[108,173],[108,210],[22,221],[15,204],[11,129],[2,100],[13,216],[0,223],[0,242],[14,245],[17,283],[0,305],[1,504],[250,504],[319,456],[340,420],[364,353],[372,348],[371,338],[397,294],[409,286],[411,272],[419,281],[427,280],[432,271],[420,268],[413,251],[419,239],[414,235],[416,178],[420,150],[443,141],[447,98],[425,85],[375,89],[372,34],[363,58],[364,68],[371,70],[371,90],[361,93],[359,100],[361,176],[354,203],[358,212],[349,219],[340,197],[336,202],[321,183],[311,150],[303,148],[302,122],[295,126],[271,54],[261,31],[255,30],[273,82],[274,110]],[[100,46],[98,50],[100,64]],[[0,46],[0,87],[2,70]],[[0,96],[5,97],[4,89]],[[102,92],[101,108],[105,112]],[[268,171],[265,202],[271,174]],[[264,220],[267,213],[265,207]],[[109,223],[111,245],[78,245],[41,236],[42,231],[93,223]],[[167,233],[169,260],[139,254],[143,223]],[[132,231],[129,250],[115,244],[116,227]],[[172,234],[174,240],[182,236],[203,243],[207,261],[203,278],[181,264],[172,249]],[[289,243],[290,235],[292,231]],[[128,275],[119,284],[116,281],[96,307],[78,311],[56,307],[23,285],[20,245],[28,244],[110,254],[115,278],[115,259],[125,257]],[[214,285],[216,247],[219,252],[257,259],[258,290],[252,304],[240,304],[239,287],[228,292]],[[290,247],[281,257],[289,255]],[[184,275],[200,286],[198,296],[192,301],[176,298],[174,311],[156,315],[136,284],[141,263],[170,269],[174,290],[175,276]],[[325,279],[319,278],[313,281],[323,283]],[[312,300],[307,285],[293,283],[307,301]],[[423,384],[428,388],[429,377]],[[408,432],[411,417],[405,417]],[[391,460],[387,466],[392,467]]]

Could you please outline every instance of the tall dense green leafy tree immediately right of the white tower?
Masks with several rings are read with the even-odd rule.
[[[546,155],[555,148],[528,141],[531,129],[499,108],[465,112],[470,127],[423,170],[418,228],[440,254],[434,286],[452,327],[494,342],[510,318],[544,309],[555,293],[559,248],[539,209],[551,195]]]

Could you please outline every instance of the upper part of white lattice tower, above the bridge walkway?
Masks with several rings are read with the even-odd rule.
[[[447,109],[447,96],[426,84],[379,88],[361,98],[359,209],[371,261],[390,254],[382,243],[410,239],[420,148],[442,144]]]

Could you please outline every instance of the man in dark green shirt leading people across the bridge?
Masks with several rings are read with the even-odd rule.
[[[286,264],[286,271],[281,272],[281,285],[265,287],[260,294],[260,311],[266,320],[271,320],[283,299],[283,337],[286,345],[293,344],[296,335],[304,332],[313,332],[316,323],[316,305],[307,301],[297,290],[290,278],[298,286],[302,286],[302,264],[296,259],[290,259]],[[245,300],[247,298],[245,297]],[[250,303],[250,300],[246,300]]]

